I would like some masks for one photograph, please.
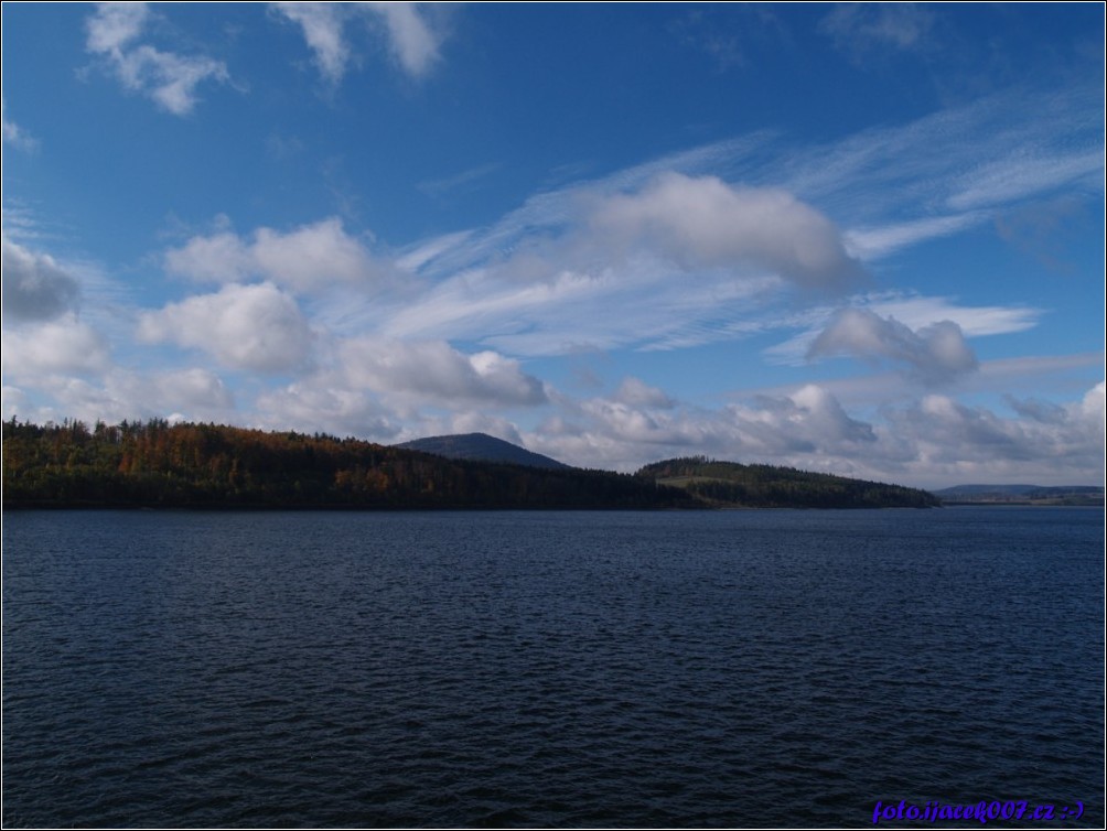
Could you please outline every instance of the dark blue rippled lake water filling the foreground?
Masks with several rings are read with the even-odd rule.
[[[3,515],[6,828],[878,800],[1103,827],[1103,511]]]

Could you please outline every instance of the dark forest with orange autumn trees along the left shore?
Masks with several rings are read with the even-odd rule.
[[[164,419],[3,423],[3,505],[194,508],[679,508],[601,470],[451,460],[353,438]]]

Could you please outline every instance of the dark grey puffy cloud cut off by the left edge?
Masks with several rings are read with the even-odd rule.
[[[4,316],[44,321],[76,308],[81,287],[52,257],[29,251],[7,236],[0,247]]]

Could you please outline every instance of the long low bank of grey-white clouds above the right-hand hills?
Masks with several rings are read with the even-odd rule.
[[[1082,485],[1103,481],[1104,393],[1098,383],[1068,404],[1020,404],[1014,416],[928,395],[872,420],[820,385],[716,411],[562,401],[523,438],[568,464],[619,470],[703,454],[919,487]]]

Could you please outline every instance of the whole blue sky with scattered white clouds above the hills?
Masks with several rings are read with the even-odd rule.
[[[1104,6],[4,2],[4,419],[1104,478]]]

